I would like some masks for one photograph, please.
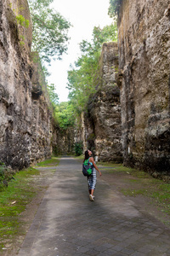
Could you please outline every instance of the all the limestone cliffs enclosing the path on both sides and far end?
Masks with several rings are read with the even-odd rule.
[[[28,28],[17,22],[19,9]],[[103,45],[88,113],[64,132],[54,125],[31,32],[27,1],[1,1],[0,160],[21,169],[50,156],[52,146],[67,154],[82,141],[99,160],[169,173],[170,0],[122,0],[118,53],[115,43]]]

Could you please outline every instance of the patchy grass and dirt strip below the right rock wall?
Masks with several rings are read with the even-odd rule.
[[[99,162],[99,166],[112,167],[114,169],[102,169],[105,174],[117,175],[123,183],[119,189],[123,195],[138,196],[143,195],[150,198],[152,204],[158,207],[161,212],[170,215],[170,184],[161,179],[156,179],[148,172],[139,171],[133,168],[122,166],[122,164]]]

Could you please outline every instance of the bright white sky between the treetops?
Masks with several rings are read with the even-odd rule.
[[[94,26],[103,28],[111,25],[113,20],[108,15],[109,0],[54,0],[53,8],[72,25],[69,29],[71,40],[67,54],[62,56],[61,61],[52,61],[48,67],[48,72],[51,73],[48,82],[55,85],[59,102],[66,102],[69,93],[66,89],[67,71],[80,56],[79,44],[83,39],[88,42],[92,39]]]

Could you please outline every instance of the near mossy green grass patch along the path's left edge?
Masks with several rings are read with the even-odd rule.
[[[6,239],[13,240],[14,236],[23,235],[19,216],[37,193],[37,187],[29,182],[33,175],[39,175],[39,171],[32,167],[16,173],[8,182],[8,188],[3,188],[0,193],[0,252],[3,252],[3,247],[8,247]]]

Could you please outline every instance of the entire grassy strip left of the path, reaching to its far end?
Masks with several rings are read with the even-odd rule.
[[[59,160],[52,158],[38,163],[37,166],[57,166]],[[39,177],[44,173],[47,178],[48,175],[53,174],[53,170],[42,172],[31,166],[14,175],[14,178],[8,182],[8,187],[3,187],[0,191],[0,255],[10,253],[15,246],[16,241],[20,236],[25,235],[26,221],[21,216],[22,212],[26,210],[26,206],[36,197],[37,192],[45,188]],[[5,249],[4,249],[5,248]]]

